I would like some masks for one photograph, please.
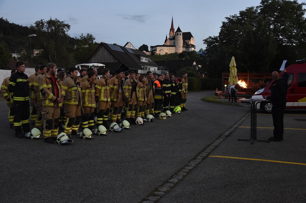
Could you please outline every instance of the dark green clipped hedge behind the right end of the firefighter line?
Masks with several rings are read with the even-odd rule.
[[[221,91],[221,79],[188,77],[188,91],[215,90]]]

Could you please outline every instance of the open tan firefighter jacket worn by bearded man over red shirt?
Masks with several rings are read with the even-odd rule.
[[[61,85],[61,81],[58,79],[57,75],[54,75],[54,79],[55,84],[48,73],[45,73],[40,77],[39,91],[41,94],[41,100],[43,101],[43,106],[56,106],[58,98],[65,98],[65,92]],[[58,92],[58,97],[56,97],[56,92]],[[58,103],[58,106],[61,107],[62,103]]]

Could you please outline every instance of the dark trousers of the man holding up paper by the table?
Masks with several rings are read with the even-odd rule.
[[[273,118],[273,136],[277,139],[281,139],[284,134],[284,106],[273,104],[272,106],[272,118]]]

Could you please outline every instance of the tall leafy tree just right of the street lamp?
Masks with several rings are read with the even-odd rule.
[[[35,44],[43,51],[34,57],[34,62],[53,62],[58,67],[71,67],[75,62],[70,54],[73,47],[69,44],[70,25],[58,19],[38,20],[30,29],[37,35]]]

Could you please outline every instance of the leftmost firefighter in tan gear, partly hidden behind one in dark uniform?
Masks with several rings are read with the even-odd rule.
[[[11,76],[17,72],[17,69],[11,70]],[[14,129],[14,112],[13,112],[13,99],[11,98],[8,88],[9,88],[9,78],[7,77],[3,80],[1,85],[1,94],[3,98],[6,99],[6,104],[9,107],[9,126],[11,129]]]

